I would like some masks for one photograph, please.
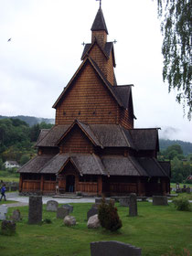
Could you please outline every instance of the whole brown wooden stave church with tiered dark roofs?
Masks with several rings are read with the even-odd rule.
[[[162,195],[170,165],[156,159],[158,129],[135,129],[132,85],[117,85],[113,42],[99,8],[77,69],[53,105],[37,156],[19,169],[19,191],[39,194]]]

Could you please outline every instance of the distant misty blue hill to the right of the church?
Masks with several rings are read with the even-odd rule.
[[[184,155],[192,153],[192,144],[183,141],[170,141],[165,139],[159,139],[160,151],[165,150],[168,146],[173,144],[179,144],[183,150]]]

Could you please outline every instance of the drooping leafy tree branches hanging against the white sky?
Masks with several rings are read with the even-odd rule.
[[[168,81],[168,91],[177,91],[176,101],[187,107],[191,120],[191,0],[157,0],[158,16],[162,19],[164,35],[163,79]]]

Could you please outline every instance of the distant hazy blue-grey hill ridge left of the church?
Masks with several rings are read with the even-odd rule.
[[[29,126],[33,126],[34,124],[42,123],[42,122],[51,123],[51,124],[55,123],[55,119],[39,118],[39,117],[35,117],[35,116],[27,116],[27,115],[3,116],[3,115],[0,115],[0,119],[5,119],[5,118],[20,119],[20,120],[28,123]]]

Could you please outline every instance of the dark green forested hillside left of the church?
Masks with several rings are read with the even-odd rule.
[[[29,126],[20,119],[0,119],[0,168],[6,160],[25,164],[36,155],[34,144],[40,129],[49,129],[52,124],[37,123]]]

